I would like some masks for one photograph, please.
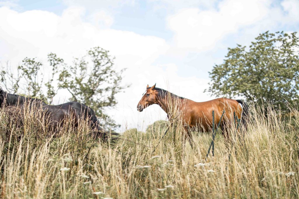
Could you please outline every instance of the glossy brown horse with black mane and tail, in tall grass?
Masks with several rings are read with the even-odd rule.
[[[152,104],[158,104],[167,113],[167,117],[169,118],[169,115],[172,115],[174,108],[177,109],[180,119],[182,119],[184,123],[186,131],[186,133],[184,133],[185,138],[188,138],[191,145],[192,137],[190,132],[192,129],[198,127],[201,131],[205,132],[208,132],[211,129],[213,121],[212,111],[214,111],[214,122],[217,125],[223,110],[225,110],[221,121],[222,134],[225,138],[229,138],[228,131],[225,130],[228,125],[225,125],[225,123],[229,120],[234,120],[234,112],[236,112],[238,118],[241,118],[242,115],[241,120],[246,128],[245,119],[248,117],[249,109],[248,104],[242,100],[217,98],[205,102],[195,102],[179,97],[167,90],[156,88],[155,86],[156,84],[152,87],[147,85],[147,90],[139,101],[137,110],[141,112]]]

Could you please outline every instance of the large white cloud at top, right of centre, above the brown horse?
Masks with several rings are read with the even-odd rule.
[[[268,1],[225,0],[218,4],[218,10],[187,8],[169,16],[167,22],[178,47],[203,51],[240,27],[261,20],[268,14],[268,7]]]

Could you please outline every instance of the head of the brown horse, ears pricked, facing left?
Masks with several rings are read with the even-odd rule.
[[[158,104],[158,91],[155,90],[155,87],[156,84],[152,87],[149,87],[149,85],[147,85],[147,90],[144,92],[144,95],[137,104],[137,110],[139,112],[143,111],[143,109],[152,104]]]

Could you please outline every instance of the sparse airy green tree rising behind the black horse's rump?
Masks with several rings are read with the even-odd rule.
[[[72,65],[64,64],[53,53],[48,55],[50,63],[61,64],[58,88],[67,89],[71,93],[70,101],[82,102],[90,106],[97,116],[103,118],[106,127],[117,125],[103,112],[103,108],[111,108],[117,103],[115,95],[128,86],[122,86],[122,72],[117,72],[114,58],[109,51],[94,47],[82,58],[75,58]],[[89,61],[91,64],[89,64]]]

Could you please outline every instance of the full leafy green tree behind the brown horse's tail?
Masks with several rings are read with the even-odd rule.
[[[260,34],[249,48],[228,48],[222,64],[209,72],[208,92],[216,96],[242,96],[255,104],[288,112],[298,104],[299,38],[297,33]]]

